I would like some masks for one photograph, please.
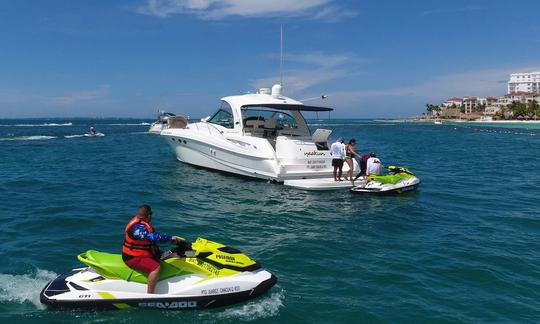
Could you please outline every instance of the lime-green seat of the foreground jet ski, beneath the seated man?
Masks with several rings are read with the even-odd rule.
[[[79,254],[77,259],[87,264],[94,269],[94,271],[107,279],[119,279],[144,284],[147,283],[147,275],[128,267],[122,260],[122,256],[120,254],[88,250],[85,253]],[[167,262],[161,262],[159,280],[164,280],[174,276],[186,275],[189,273],[190,272],[179,269]]]

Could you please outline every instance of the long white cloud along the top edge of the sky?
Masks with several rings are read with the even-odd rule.
[[[158,17],[178,14],[202,19],[240,17],[296,17],[339,20],[356,15],[352,10],[333,5],[335,0],[147,0],[137,12]]]

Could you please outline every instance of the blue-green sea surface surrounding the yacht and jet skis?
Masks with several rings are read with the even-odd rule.
[[[311,120],[410,168],[400,196],[307,192],[176,161],[150,120],[0,120],[5,323],[538,322],[540,126]],[[90,125],[104,137],[83,136]],[[214,310],[39,304],[88,249],[117,252],[141,203],[159,231],[246,252],[279,278]]]

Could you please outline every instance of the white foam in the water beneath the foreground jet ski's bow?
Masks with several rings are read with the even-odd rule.
[[[220,320],[235,319],[239,321],[253,321],[268,318],[279,314],[283,306],[284,292],[274,292],[268,297],[257,299],[242,306],[232,307],[218,314]]]

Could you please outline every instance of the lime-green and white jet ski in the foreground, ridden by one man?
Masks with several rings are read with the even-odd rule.
[[[126,266],[120,254],[89,250],[78,259],[88,267],[49,282],[41,303],[60,309],[210,308],[255,298],[277,282],[242,252],[203,238],[162,255],[155,294],[146,293],[146,276]]]

